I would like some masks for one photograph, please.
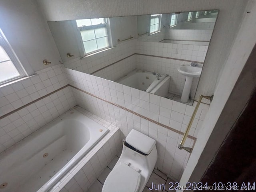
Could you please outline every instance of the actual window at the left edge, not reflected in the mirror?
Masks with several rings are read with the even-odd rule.
[[[0,29],[0,84],[25,76],[25,71],[18,61]]]

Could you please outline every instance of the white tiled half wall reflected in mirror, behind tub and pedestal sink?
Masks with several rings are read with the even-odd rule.
[[[185,76],[177,69],[191,62],[202,63],[208,46],[182,45],[175,43],[158,43],[130,40],[120,43],[106,51],[76,58],[65,63],[65,66],[76,71],[86,72],[108,80],[117,80],[134,69],[156,71],[171,76],[169,92],[181,95]],[[191,88],[193,98],[199,78],[194,78]]]

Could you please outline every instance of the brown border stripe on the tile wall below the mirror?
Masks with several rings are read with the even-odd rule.
[[[111,101],[108,101],[108,100],[106,100],[106,99],[103,99],[103,98],[101,98],[101,97],[98,97],[98,96],[96,96],[96,95],[94,95],[94,94],[91,94],[91,93],[89,93],[89,92],[86,92],[86,91],[84,91],[84,90],[82,90],[82,89],[80,89],[80,88],[77,88],[77,87],[73,86],[73,85],[70,85],[70,84],[69,84],[69,86],[72,87],[72,88],[74,88],[74,89],[76,89],[76,90],[79,90],[79,91],[81,91],[81,92],[84,92],[84,93],[86,93],[86,94],[88,94],[88,95],[90,95],[90,96],[93,96],[93,97],[98,98],[98,99],[100,99],[100,100],[102,100],[102,101],[105,101],[105,102],[107,102],[107,103],[109,103],[109,104],[112,104],[112,105],[114,105],[114,106],[116,106],[116,107],[118,107],[118,108],[121,108],[121,109],[123,109],[123,110],[126,110],[126,111],[128,111],[128,112],[130,112],[130,113],[132,113],[132,114],[134,114],[134,115],[136,115],[136,116],[139,116],[140,118],[143,118],[143,119],[148,120],[148,121],[150,121],[150,122],[152,122],[152,123],[155,123],[155,124],[157,124],[157,125],[160,125],[160,126],[162,126],[162,127],[165,127],[166,129],[169,129],[169,130],[171,130],[171,131],[174,131],[175,133],[178,133],[178,134],[180,134],[180,135],[184,135],[184,133],[183,133],[182,131],[178,131],[178,130],[172,128],[172,127],[169,127],[169,126],[164,125],[164,124],[162,124],[162,123],[159,123],[159,122],[157,122],[157,121],[155,121],[155,120],[152,120],[152,119],[150,119],[150,118],[147,118],[147,117],[145,117],[145,116],[142,116],[142,115],[140,115],[140,114],[138,114],[138,113],[136,113],[136,112],[134,112],[134,111],[132,111],[132,110],[129,110],[129,109],[127,109],[127,108],[125,108],[125,107],[123,107],[123,106],[120,106],[120,105],[118,105],[118,104],[116,104],[116,103],[113,103],[113,102],[111,102]],[[193,137],[193,136],[191,136],[191,135],[188,135],[188,138],[190,138],[190,139],[196,141],[196,137]]]

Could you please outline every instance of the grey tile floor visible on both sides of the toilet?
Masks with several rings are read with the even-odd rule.
[[[92,184],[92,186],[89,189],[89,192],[101,192],[102,191],[103,184],[104,184],[108,174],[110,173],[110,171],[116,165],[116,162],[118,161],[118,159],[121,155],[121,152],[122,151],[118,152],[118,154],[114,157],[114,159],[108,164],[108,166],[105,168],[105,170],[102,172],[102,174]],[[152,182],[156,185],[156,189],[158,189],[158,190],[156,190],[156,189],[149,190],[149,188],[152,188]],[[160,170],[154,169],[143,192],[170,192],[170,191],[173,192],[174,190],[169,190],[170,182],[175,183],[175,181],[172,180],[171,178],[169,178],[166,174],[164,174]]]

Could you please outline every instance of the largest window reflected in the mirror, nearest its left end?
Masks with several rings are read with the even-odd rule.
[[[80,29],[85,55],[110,47],[106,18],[76,20],[76,24]]]

